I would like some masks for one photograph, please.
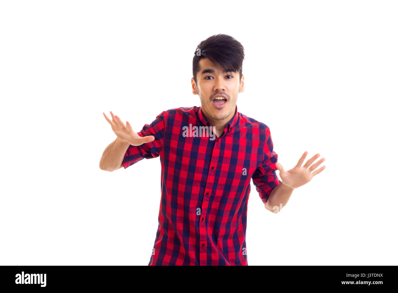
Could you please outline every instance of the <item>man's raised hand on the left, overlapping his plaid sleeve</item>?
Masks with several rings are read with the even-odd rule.
[[[120,120],[118,116],[113,115],[112,111],[110,111],[112,120],[110,120],[104,112],[102,112],[105,119],[111,124],[113,132],[115,132],[117,138],[121,142],[128,142],[132,146],[140,146],[142,144],[146,144],[148,142],[152,142],[155,140],[155,137],[152,135],[141,137],[137,133],[133,131],[131,125],[128,121],[126,121],[126,125]]]

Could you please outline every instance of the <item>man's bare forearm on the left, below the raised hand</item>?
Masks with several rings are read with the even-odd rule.
[[[128,142],[121,142],[119,138],[116,138],[103,151],[100,169],[110,172],[119,169],[129,146]]]

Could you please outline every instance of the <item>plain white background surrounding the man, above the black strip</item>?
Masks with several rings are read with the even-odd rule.
[[[269,126],[285,170],[326,169],[274,214],[253,183],[249,265],[397,265],[395,1],[2,1],[1,265],[148,265],[160,160],[100,170],[115,139],[200,106],[192,57],[245,48],[238,111]]]

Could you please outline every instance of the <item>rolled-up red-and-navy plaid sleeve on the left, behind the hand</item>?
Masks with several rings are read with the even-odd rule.
[[[142,130],[137,132],[137,134],[141,137],[152,135],[155,137],[155,140],[140,146],[130,145],[122,161],[122,166],[125,169],[144,158],[152,159],[160,155],[163,148],[164,134],[166,129],[167,117],[165,116],[167,116],[167,112],[163,111],[156,116],[156,119],[151,124],[145,124],[144,127],[142,127]]]

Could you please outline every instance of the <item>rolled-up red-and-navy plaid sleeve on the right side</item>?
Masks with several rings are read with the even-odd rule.
[[[273,151],[273,143],[269,128],[265,129],[264,159],[252,176],[253,183],[261,201],[266,203],[271,191],[281,183],[276,175],[278,155]]]

